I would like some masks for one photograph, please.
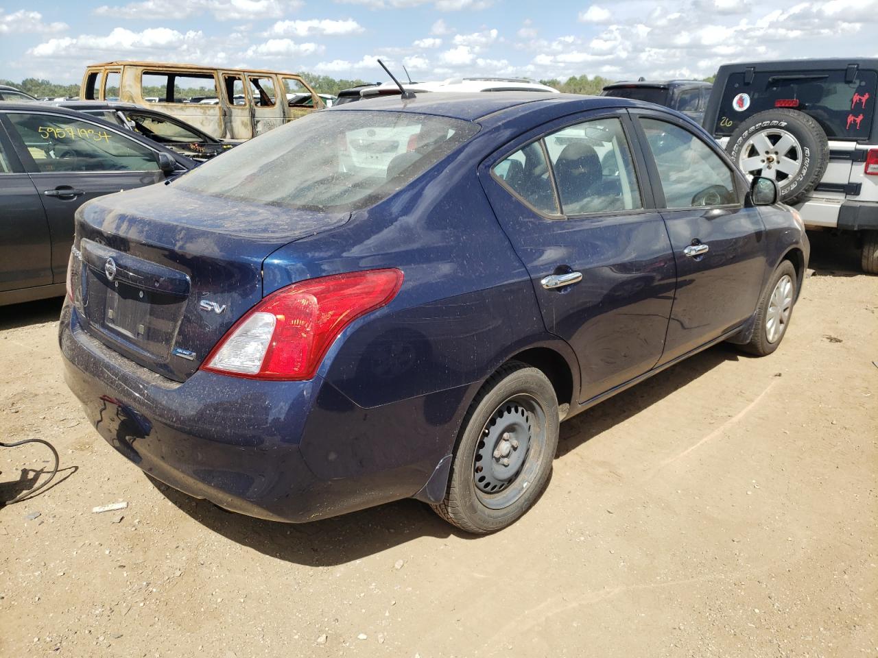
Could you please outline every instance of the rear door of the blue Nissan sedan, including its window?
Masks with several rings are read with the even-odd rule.
[[[523,135],[479,172],[546,328],[577,354],[580,402],[652,368],[671,314],[671,244],[630,135],[625,111],[587,112]]]

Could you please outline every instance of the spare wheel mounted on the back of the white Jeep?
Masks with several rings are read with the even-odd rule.
[[[802,153],[797,153],[800,168],[792,175],[787,175],[775,170],[778,187],[781,190],[780,201],[784,204],[795,204],[804,195],[817,187],[817,183],[823,178],[826,166],[829,164],[829,139],[826,138],[824,129],[820,124],[807,114],[797,110],[766,110],[757,112],[751,118],[747,118],[738,125],[735,132],[731,133],[729,143],[725,150],[736,166],[741,166],[742,151],[749,140],[759,132],[771,132],[778,129],[789,132],[798,140],[802,147]],[[774,144],[777,139],[774,139]],[[748,149],[750,150],[750,149]],[[795,153],[795,151],[794,151]],[[744,153],[743,156],[753,155]],[[761,153],[759,154],[761,155]],[[774,154],[770,154],[774,157]],[[781,154],[782,155],[782,154]],[[771,166],[770,164],[766,164]],[[765,174],[766,169],[759,171],[751,170],[744,172],[747,175]],[[781,176],[783,176],[781,180]]]

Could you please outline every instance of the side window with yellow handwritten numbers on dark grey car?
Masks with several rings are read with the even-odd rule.
[[[102,125],[51,114],[6,116],[40,172],[159,168],[152,150]]]

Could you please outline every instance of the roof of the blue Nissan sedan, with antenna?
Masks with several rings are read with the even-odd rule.
[[[602,107],[649,107],[655,109],[652,104],[643,104],[630,98],[535,91],[497,91],[492,93],[473,91],[470,93],[430,92],[420,96],[415,95],[414,98],[406,100],[399,96],[378,97],[371,99],[368,103],[343,104],[325,111],[404,111],[483,122],[488,117],[502,121],[507,118],[505,115],[510,115],[510,111],[516,108],[519,109],[516,114],[555,108],[549,113],[561,116],[565,113]]]

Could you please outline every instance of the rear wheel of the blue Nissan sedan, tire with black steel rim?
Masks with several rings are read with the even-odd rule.
[[[542,420],[536,408],[528,411],[530,404],[539,406]],[[502,460],[491,454],[492,451],[500,451],[501,447],[511,449],[508,444],[500,445],[507,437],[523,437],[522,433],[515,433],[515,429],[508,433],[507,423],[528,428],[530,433],[527,448],[517,456],[520,465],[516,466],[515,462],[510,465],[506,459],[507,466],[503,467]],[[518,361],[501,367],[488,378],[467,411],[451,462],[448,490],[442,503],[431,505],[434,511],[450,524],[474,534],[493,533],[515,523],[536,503],[549,483],[552,460],[558,448],[558,426],[558,399],[546,375]],[[491,445],[486,447],[487,443]],[[515,449],[523,448],[517,440],[512,443]],[[507,454],[516,459],[515,454]],[[493,463],[493,459],[497,463]],[[491,463],[485,466],[486,462]],[[498,486],[491,485],[490,480],[479,484],[477,479],[484,481],[488,471],[493,473],[502,468],[511,468],[509,480],[502,488],[496,493],[477,490],[477,487],[487,490],[489,486]],[[511,502],[501,506],[505,499]]]

